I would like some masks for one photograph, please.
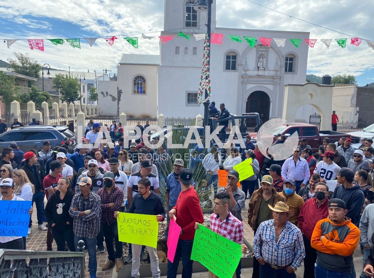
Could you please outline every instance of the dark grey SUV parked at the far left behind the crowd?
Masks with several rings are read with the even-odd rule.
[[[30,125],[13,128],[0,134],[0,150],[8,147],[10,143],[16,142],[19,149],[28,152],[30,149],[40,150],[44,141],[50,141],[51,148],[61,146],[64,138],[69,137],[72,142],[71,148],[77,146],[77,138],[67,126],[59,125]]]

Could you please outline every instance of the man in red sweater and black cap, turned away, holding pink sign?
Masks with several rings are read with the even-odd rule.
[[[195,223],[204,222],[203,212],[200,207],[199,197],[193,188],[192,171],[183,168],[179,172],[179,182],[182,191],[177,199],[177,205],[169,211],[169,217],[177,217],[175,222],[182,228],[177,249],[175,250],[174,263],[168,260],[167,278],[176,278],[179,260],[182,257],[183,278],[192,277],[191,252],[195,237]]]

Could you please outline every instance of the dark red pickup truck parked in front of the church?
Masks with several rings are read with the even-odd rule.
[[[273,143],[278,139],[277,134],[292,135],[294,132],[298,132],[299,140],[301,138],[306,139],[307,144],[312,147],[313,153],[318,153],[318,148],[322,145],[322,140],[324,140],[325,137],[330,138],[330,143],[339,141],[341,137],[351,137],[350,134],[342,132],[318,130],[316,125],[311,125],[309,123],[280,123],[266,130],[266,133],[274,135]],[[252,141],[257,140],[257,133],[249,135],[251,135]]]

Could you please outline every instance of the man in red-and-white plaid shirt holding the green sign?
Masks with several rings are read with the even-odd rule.
[[[210,217],[210,229],[233,242],[242,244],[244,235],[243,223],[230,213],[229,204],[230,195],[227,192],[221,191],[214,195],[213,213]],[[195,229],[199,229],[197,222],[195,223]],[[242,264],[239,261],[234,277],[240,278],[241,269]],[[209,278],[218,277],[209,271]]]

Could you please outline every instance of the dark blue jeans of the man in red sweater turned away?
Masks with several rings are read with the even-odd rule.
[[[193,239],[184,240],[178,239],[177,249],[175,250],[174,263],[168,260],[168,276],[167,278],[176,278],[179,260],[182,257],[182,278],[192,277],[192,264],[191,260]]]

